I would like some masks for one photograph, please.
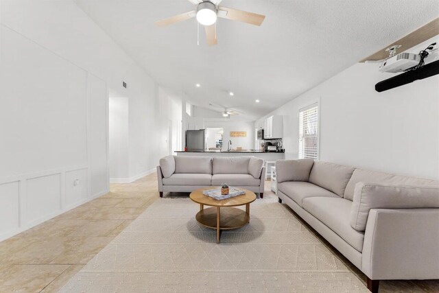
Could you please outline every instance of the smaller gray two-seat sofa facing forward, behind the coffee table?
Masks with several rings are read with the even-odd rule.
[[[211,158],[210,156],[165,156],[157,166],[158,191],[191,192],[228,183],[263,198],[265,167],[254,156]]]

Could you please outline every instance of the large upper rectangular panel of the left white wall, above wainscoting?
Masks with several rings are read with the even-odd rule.
[[[85,164],[87,72],[5,27],[0,64],[0,178]]]

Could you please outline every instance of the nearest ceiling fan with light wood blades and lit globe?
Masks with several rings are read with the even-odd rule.
[[[178,23],[180,21],[186,21],[187,19],[196,19],[200,25],[204,25],[204,31],[206,32],[206,40],[209,46],[217,45],[216,36],[216,21],[217,17],[222,19],[230,19],[232,21],[241,21],[243,23],[250,23],[251,25],[261,25],[265,19],[265,15],[256,14],[252,12],[246,12],[242,10],[236,10],[233,8],[226,8],[219,6],[222,0],[188,0],[196,5],[195,10],[171,16],[161,21],[156,21],[155,24],[158,27],[164,27],[165,25],[171,25],[172,23]]]

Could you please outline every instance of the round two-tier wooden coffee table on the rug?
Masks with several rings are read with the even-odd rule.
[[[246,191],[246,194],[235,196],[234,198],[226,198],[225,200],[215,200],[203,194],[204,190],[214,188],[220,187],[194,190],[189,198],[193,202],[200,204],[200,211],[195,215],[195,219],[203,226],[216,229],[217,243],[219,243],[222,230],[240,228],[250,222],[250,202],[256,200],[256,194],[244,188],[240,189]],[[246,205],[246,211],[235,208],[244,204]],[[205,205],[209,206],[209,208],[204,209]]]

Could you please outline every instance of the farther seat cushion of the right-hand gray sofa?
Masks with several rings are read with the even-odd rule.
[[[314,196],[339,198],[337,194],[333,194],[331,191],[309,182],[285,181],[278,183],[277,189],[285,194],[285,196],[294,200],[300,207],[302,207],[304,198],[312,198]]]

